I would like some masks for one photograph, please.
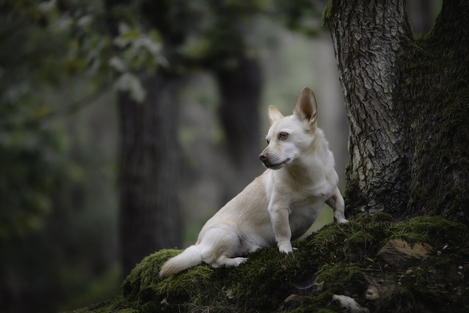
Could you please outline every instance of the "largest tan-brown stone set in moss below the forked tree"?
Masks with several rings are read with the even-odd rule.
[[[409,263],[425,259],[430,256],[432,247],[429,244],[414,244],[414,248],[403,240],[389,240],[376,254],[389,265],[406,266]]]

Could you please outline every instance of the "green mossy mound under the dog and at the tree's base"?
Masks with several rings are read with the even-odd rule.
[[[265,248],[237,268],[202,264],[163,280],[159,268],[181,250],[161,250],[132,270],[121,295],[74,312],[342,312],[333,294],[355,298],[371,312],[469,312],[468,237],[466,226],[442,217],[395,222],[378,213],[328,224],[296,242],[293,255]],[[376,253],[390,239],[430,244],[434,252],[410,268],[386,266]],[[301,289],[323,281],[322,290]],[[371,283],[378,300],[364,296]],[[291,294],[304,298],[287,305]]]

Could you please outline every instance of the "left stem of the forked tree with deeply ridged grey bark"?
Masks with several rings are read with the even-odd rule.
[[[405,2],[334,0],[327,14],[348,111],[348,214],[386,211],[403,218],[410,164],[394,67],[412,36]]]

